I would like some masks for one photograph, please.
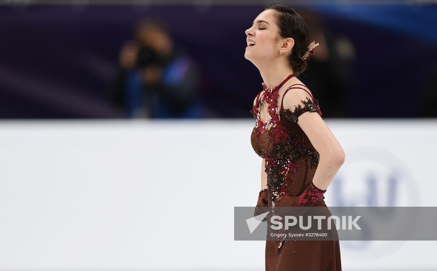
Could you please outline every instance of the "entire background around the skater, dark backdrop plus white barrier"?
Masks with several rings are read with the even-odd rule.
[[[232,223],[260,185],[244,31],[271,3],[0,0],[0,270],[264,270]],[[436,2],[281,3],[346,153],[328,206],[436,206]],[[435,241],[340,247],[343,270],[437,270]]]

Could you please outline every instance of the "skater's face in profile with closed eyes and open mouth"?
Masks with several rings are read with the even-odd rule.
[[[272,9],[264,10],[255,18],[252,27],[245,31],[247,47],[244,57],[246,59],[273,59],[279,56],[279,28],[274,12],[276,11]],[[252,45],[251,41],[255,45]]]

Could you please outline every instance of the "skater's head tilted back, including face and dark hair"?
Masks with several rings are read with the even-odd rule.
[[[305,70],[307,63],[301,58],[309,45],[308,29],[291,7],[279,3],[269,5],[245,33],[248,47],[244,57],[255,66],[269,61],[285,63],[295,76]],[[255,45],[250,45],[250,40]]]

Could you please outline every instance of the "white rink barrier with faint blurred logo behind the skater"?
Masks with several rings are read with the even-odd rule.
[[[346,153],[328,206],[436,206],[437,121],[326,123]],[[265,241],[233,240],[253,124],[0,122],[0,270],[264,270]],[[340,241],[343,270],[437,270],[436,244]]]

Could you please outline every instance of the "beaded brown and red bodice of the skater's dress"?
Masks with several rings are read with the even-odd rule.
[[[285,90],[282,97],[292,88],[305,90],[293,86]],[[259,96],[260,94],[257,97]],[[279,196],[300,195],[312,180],[319,163],[319,153],[298,125],[298,117],[308,111],[317,112],[320,116],[322,114],[317,100],[307,98],[301,102],[302,104],[295,105],[295,110],[291,112],[288,108],[283,108],[281,101],[281,108],[275,110],[277,118],[271,118],[274,120],[273,123],[260,121],[259,104],[253,106],[250,111],[256,120],[251,143],[255,153],[266,161],[270,206],[274,206]]]

